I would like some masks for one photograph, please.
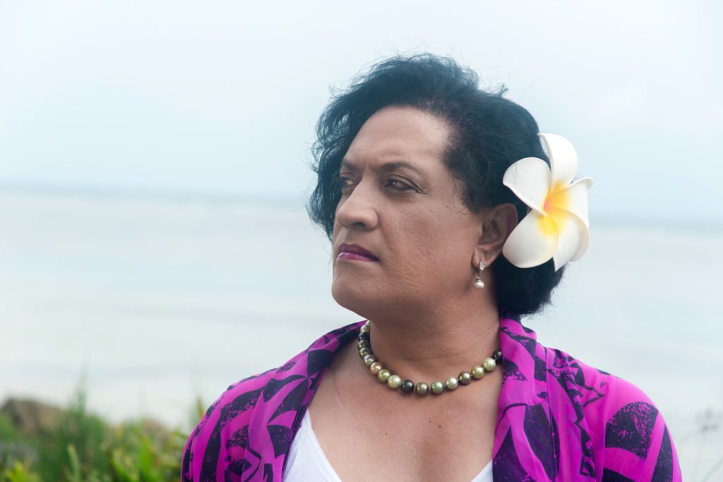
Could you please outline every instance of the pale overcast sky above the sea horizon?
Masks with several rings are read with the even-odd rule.
[[[508,86],[592,176],[591,223],[723,225],[704,1],[0,0],[0,186],[299,202],[329,87],[393,53]]]

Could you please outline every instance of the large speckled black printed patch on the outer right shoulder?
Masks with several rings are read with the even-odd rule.
[[[605,426],[605,447],[616,447],[644,459],[658,410],[649,403],[633,402],[617,410]]]

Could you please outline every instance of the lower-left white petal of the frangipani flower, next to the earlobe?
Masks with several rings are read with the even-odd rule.
[[[557,238],[555,222],[530,211],[508,236],[502,254],[518,268],[539,266],[555,254]]]

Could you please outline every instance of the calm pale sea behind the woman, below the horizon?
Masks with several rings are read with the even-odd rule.
[[[526,324],[641,387],[701,480],[723,455],[722,431],[700,431],[723,413],[723,232],[593,223]],[[196,395],[360,319],[330,297],[328,242],[299,205],[6,190],[0,226],[0,400],[67,403],[85,374],[104,416],[189,429]]]

